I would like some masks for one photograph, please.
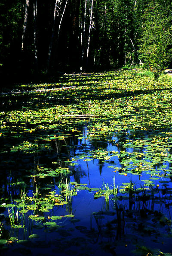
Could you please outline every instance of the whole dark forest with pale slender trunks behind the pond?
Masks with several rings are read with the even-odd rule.
[[[2,0],[0,12],[6,85],[172,62],[170,0]]]

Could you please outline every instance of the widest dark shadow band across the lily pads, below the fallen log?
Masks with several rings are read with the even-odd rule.
[[[104,93],[102,95],[102,90]],[[115,91],[119,90],[118,88],[114,88]],[[29,108],[29,109],[45,109],[47,107],[53,107],[55,105],[63,105],[68,106],[71,104],[76,104],[78,102],[85,102],[88,100],[110,100],[110,99],[119,99],[124,97],[133,97],[144,94],[154,94],[155,92],[163,92],[163,91],[171,91],[172,88],[165,89],[154,89],[154,90],[135,90],[135,91],[126,91],[119,90],[117,92],[109,92],[107,88],[99,88],[94,91],[92,89],[71,89],[68,90],[57,90],[56,92],[42,92],[42,93],[32,93],[29,94],[18,94],[18,95],[10,95],[1,98],[1,111],[8,111]],[[84,95],[84,97],[83,97]],[[169,103],[169,102],[168,102]]]

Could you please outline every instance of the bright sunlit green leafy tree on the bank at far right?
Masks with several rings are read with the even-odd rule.
[[[160,75],[172,60],[172,5],[152,1],[144,11],[140,48],[144,66]]]

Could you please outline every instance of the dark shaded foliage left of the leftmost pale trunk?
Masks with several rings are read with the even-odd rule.
[[[0,3],[1,20],[0,20],[0,67],[14,69],[20,54],[20,42],[22,35],[22,10],[23,1],[2,0]],[[10,61],[8,61],[10,59]]]

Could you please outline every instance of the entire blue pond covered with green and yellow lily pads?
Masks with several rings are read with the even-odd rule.
[[[74,74],[0,98],[2,255],[172,255],[171,82]]]

